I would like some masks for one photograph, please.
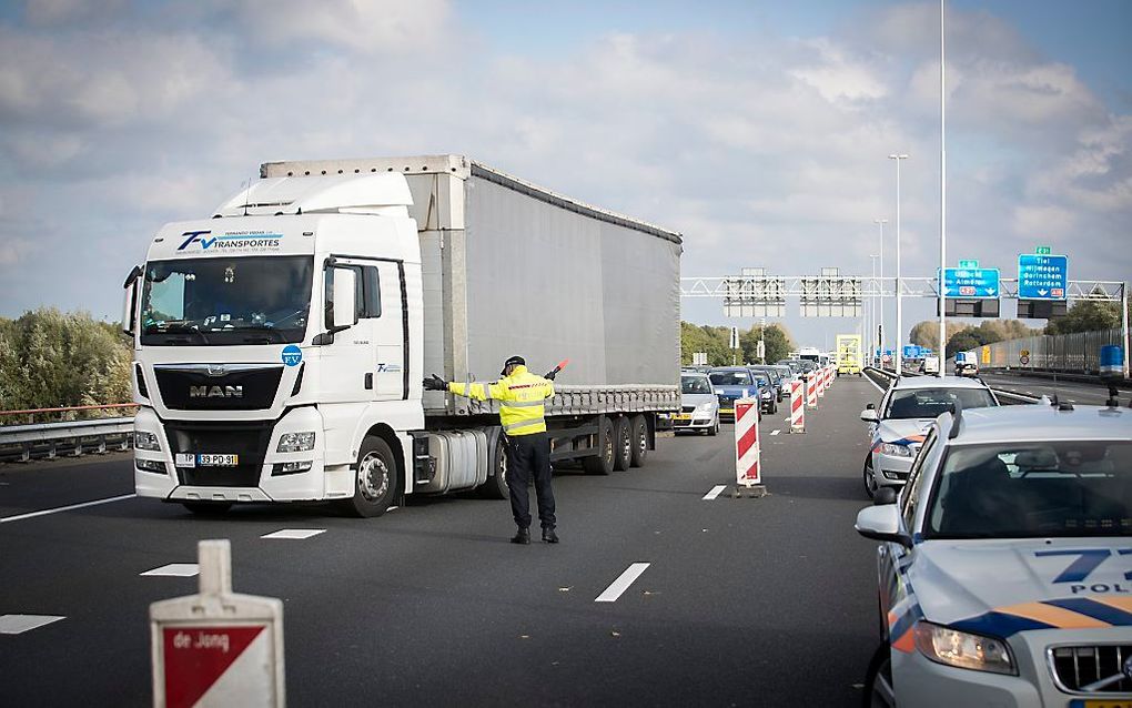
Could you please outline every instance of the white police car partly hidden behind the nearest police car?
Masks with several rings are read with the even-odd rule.
[[[998,399],[977,379],[901,376],[884,394],[880,410],[869,403],[861,411],[872,441],[863,472],[869,498],[880,487],[904,484],[932,420],[957,403],[964,409],[984,408],[997,406]]]

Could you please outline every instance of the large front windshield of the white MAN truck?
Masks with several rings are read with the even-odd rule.
[[[142,343],[300,342],[312,270],[310,256],[151,262],[142,292]]]

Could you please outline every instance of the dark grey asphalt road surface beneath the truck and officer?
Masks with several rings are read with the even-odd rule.
[[[839,379],[805,435],[765,419],[764,498],[704,498],[734,479],[730,426],[662,438],[643,469],[564,470],[557,546],[507,543],[507,503],[477,498],[372,520],[132,497],[20,518],[130,494],[129,459],[0,467],[0,615],[63,617],[0,633],[2,702],[148,705],[148,605],[197,580],[139,573],[229,538],[235,591],[284,602],[292,706],[857,705],[878,621],[875,544],[852,530],[858,413],[878,398]],[[261,538],[281,529],[324,531]]]

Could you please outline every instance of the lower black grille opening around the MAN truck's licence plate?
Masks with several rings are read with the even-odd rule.
[[[165,433],[173,452],[238,454],[237,467],[179,467],[182,485],[257,487],[263,471],[273,420],[255,423],[166,423]]]

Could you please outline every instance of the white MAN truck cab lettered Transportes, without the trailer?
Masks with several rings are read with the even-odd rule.
[[[123,318],[139,496],[388,507],[423,426],[410,204],[400,174],[273,178],[157,232]]]

